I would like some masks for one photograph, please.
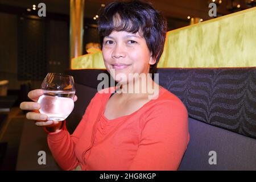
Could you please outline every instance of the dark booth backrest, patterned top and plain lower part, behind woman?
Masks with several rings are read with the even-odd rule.
[[[97,92],[99,69],[69,70],[79,98],[67,118],[75,129]],[[159,84],[183,101],[190,142],[179,170],[256,170],[256,69],[158,69]],[[247,136],[247,137],[246,137]],[[209,164],[209,152],[217,164]]]

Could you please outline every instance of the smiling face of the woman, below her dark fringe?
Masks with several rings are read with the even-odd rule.
[[[155,64],[146,40],[138,32],[113,31],[105,36],[102,55],[106,69],[117,82],[131,81],[128,79],[129,73],[147,74],[150,64]],[[122,74],[117,76],[118,73]]]

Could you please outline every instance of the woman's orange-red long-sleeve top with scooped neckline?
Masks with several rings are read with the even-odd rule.
[[[90,101],[73,134],[67,127],[48,134],[48,146],[61,168],[72,170],[176,170],[189,142],[188,113],[174,94],[159,97],[132,114],[104,116],[113,88]]]

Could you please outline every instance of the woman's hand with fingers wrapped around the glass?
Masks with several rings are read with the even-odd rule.
[[[20,103],[20,109],[30,110],[26,115],[27,119],[35,120],[36,126],[47,127],[48,131],[56,131],[61,127],[61,121],[49,121],[47,120],[46,114],[40,114],[39,109],[41,108],[40,104],[37,103],[40,96],[43,95],[42,89],[31,90],[28,93],[28,98],[34,102],[22,102]],[[77,96],[74,97],[74,102],[76,102]]]

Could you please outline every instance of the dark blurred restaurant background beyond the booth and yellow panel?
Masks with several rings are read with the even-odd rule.
[[[38,16],[38,4],[46,4],[46,16]],[[82,7],[82,46],[79,55],[100,49],[98,11],[111,1],[85,0]],[[155,0],[150,1],[168,22],[168,31],[212,19],[209,3],[217,5],[217,17],[255,6],[254,0]],[[29,90],[40,88],[48,72],[71,68],[71,1],[0,0],[0,167],[17,166],[20,136],[26,120],[19,109]],[[75,25],[76,26],[76,25]],[[75,55],[75,56],[79,56]],[[32,134],[31,134],[32,136]],[[20,167],[20,166],[19,166]]]

